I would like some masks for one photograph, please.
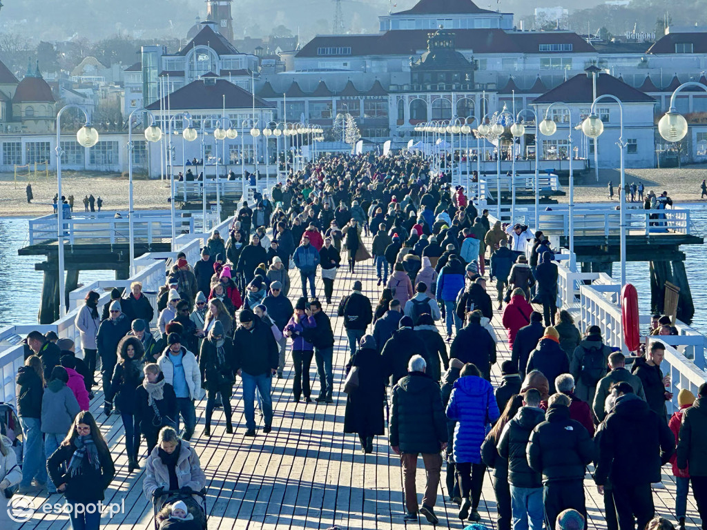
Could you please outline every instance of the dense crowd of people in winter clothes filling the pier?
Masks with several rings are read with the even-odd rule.
[[[103,413],[122,420],[129,473],[141,469],[146,444],[146,497],[181,494],[160,510],[160,528],[197,524],[189,501],[205,477],[189,441],[211,436],[216,408],[235,435],[238,380],[246,437],[277,428],[274,378],[291,379],[297,404],[333,404],[332,319],[340,318],[349,353],[344,432],[358,436],[364,454],[387,433],[400,456],[405,521],[437,524],[445,467],[446,501],[462,522],[479,524],[491,469],[498,529],[578,530],[592,464],[607,528],[644,529],[654,524],[651,484],[671,458],[677,522],[684,527],[689,481],[707,520],[707,384],[699,396],[680,391],[669,425],[664,346],[651,343],[629,371],[599,327],[582,336],[556,307],[558,271],[542,232],[491,225],[462,187],[402,155],[322,158],[277,184],[271,198],[255,199],[255,208],[243,203],[226,238],[214,230],[198,261],[177,254],[156,304],[139,282],[113,290],[103,308],[89,292],[76,314],[82,356],[70,339],[28,335],[17,378],[24,461],[6,488],[103,500],[115,467],[88,412],[101,389]],[[361,263],[371,259],[378,300],[361,281],[371,270]],[[291,269],[299,278],[292,285]],[[341,296],[339,274],[351,280]],[[494,312],[505,337],[491,325]],[[511,356],[499,363],[503,342]],[[496,364],[500,379],[491,376]],[[195,403],[204,396],[197,429]],[[95,517],[71,517],[76,530],[98,528]]]

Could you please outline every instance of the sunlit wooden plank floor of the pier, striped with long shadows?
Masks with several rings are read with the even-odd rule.
[[[370,238],[364,238],[370,248]],[[296,271],[291,271],[290,296],[296,300],[300,295],[300,283]],[[363,281],[364,294],[378,300],[380,288],[375,281],[372,261],[359,264],[354,275],[342,267],[335,283],[334,304],[325,306],[332,317],[337,344],[334,348],[334,403],[295,404],[291,401],[293,371],[288,363],[284,379],[274,379],[273,431],[269,435],[258,432],[255,438],[243,437],[245,418],[241,404],[240,379],[236,383],[232,404],[234,406],[234,435],[226,435],[223,411],[214,413],[215,426],[211,438],[204,438],[205,401],[197,404],[197,430],[192,446],[197,449],[201,465],[206,473],[208,488],[207,511],[210,530],[274,530],[274,529],[327,529],[339,526],[344,529],[402,530],[429,526],[422,519],[415,524],[404,524],[404,501],[399,457],[392,452],[387,438],[380,436],[374,441],[373,454],[361,453],[356,435],[345,435],[344,408],[346,394],[341,391],[344,381],[344,365],[349,357],[346,334],[341,319],[335,317],[338,300],[351,290],[354,280]],[[495,294],[493,285],[489,293]],[[317,278],[317,293],[323,295],[323,285]],[[501,361],[510,358],[505,342],[506,331],[501,326],[500,313],[493,318],[498,345],[498,364],[493,367],[493,383],[500,382]],[[315,363],[310,370],[312,395],[319,391]],[[116,461],[117,475],[106,492],[105,502],[124,502],[124,513],[112,519],[103,518],[102,527],[108,529],[141,529],[152,527],[152,509],[142,493],[144,472],[127,474],[127,458],[124,447],[122,423],[117,416],[106,418],[102,413],[102,402],[98,396],[91,411],[101,422]],[[259,425],[261,428],[262,425]],[[144,466],[146,448],[141,449],[141,464]],[[421,466],[421,463],[419,464]],[[448,502],[444,482],[445,470],[436,505],[440,518],[439,526],[445,529],[462,529],[457,519],[457,507]],[[418,469],[418,490],[424,483],[424,470]],[[675,482],[670,467],[663,468],[664,489],[654,490],[657,514],[674,520]],[[587,475],[585,493],[589,513],[590,529],[604,529],[602,497]],[[47,500],[35,497],[35,506]],[[53,495],[52,503],[62,502],[60,495]],[[688,527],[697,528],[699,516],[690,496],[688,499]],[[491,477],[484,481],[479,513],[482,523],[496,527],[496,502],[491,488]],[[17,525],[18,527],[20,525]],[[21,526],[22,530],[60,530],[69,528],[64,515],[39,514]]]

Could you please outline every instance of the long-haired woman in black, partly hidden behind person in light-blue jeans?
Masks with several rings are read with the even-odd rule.
[[[510,530],[512,517],[510,514],[510,484],[508,484],[508,459],[498,454],[498,440],[506,424],[523,406],[523,397],[515,394],[503,409],[501,418],[493,425],[486,440],[481,444],[481,459],[487,467],[493,469],[493,493],[496,494],[496,517],[498,530]]]

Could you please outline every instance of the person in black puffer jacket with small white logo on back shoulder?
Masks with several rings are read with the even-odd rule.
[[[570,418],[569,406],[568,396],[550,396],[545,420],[533,430],[527,448],[530,467],[542,473],[548,528],[555,527],[563,510],[577,510],[587,518],[584,475],[594,444],[583,425]]]

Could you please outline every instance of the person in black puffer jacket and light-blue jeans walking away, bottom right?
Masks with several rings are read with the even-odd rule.
[[[545,420],[545,413],[539,408],[540,392],[537,389],[528,389],[525,391],[523,403],[522,408],[501,432],[498,455],[508,460],[508,482],[513,499],[514,523],[519,520],[520,525],[530,522],[531,528],[542,528],[545,510],[541,476],[530,469],[525,455],[532,430]]]

